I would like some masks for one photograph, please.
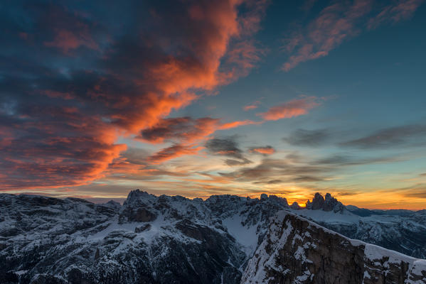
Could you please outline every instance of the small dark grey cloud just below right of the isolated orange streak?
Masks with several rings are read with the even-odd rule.
[[[326,129],[297,129],[283,140],[294,146],[319,146],[329,141],[330,133]]]

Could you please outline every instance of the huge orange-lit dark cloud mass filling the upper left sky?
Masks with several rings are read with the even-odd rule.
[[[109,18],[100,16],[95,23],[84,13],[70,13],[75,7],[43,6],[41,15],[31,19],[40,27],[34,37],[40,40],[31,50],[58,48],[63,54],[46,53],[39,66],[25,70],[31,76],[11,80],[11,86],[28,94],[16,96],[16,114],[1,129],[12,133],[0,143],[0,170],[7,177],[1,186],[58,187],[96,180],[126,149],[118,138],[158,130],[164,122],[171,129],[166,134],[142,138],[162,143],[179,133],[179,141],[151,155],[150,163],[193,155],[202,148],[194,142],[240,125],[181,119],[191,126],[181,131],[164,117],[255,66],[261,52],[247,37],[256,31],[262,9],[247,1],[153,2],[138,11],[144,13],[140,21],[131,21],[140,26],[119,33],[103,30]],[[238,11],[241,5],[244,11]],[[57,70],[52,62],[73,60],[70,52],[85,64],[72,62]],[[112,171],[130,167],[126,160],[117,163]]]

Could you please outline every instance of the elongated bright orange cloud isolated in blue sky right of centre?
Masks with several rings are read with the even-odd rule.
[[[316,97],[293,99],[292,101],[271,107],[268,111],[257,114],[265,120],[289,119],[294,116],[307,114],[310,109],[319,106]]]

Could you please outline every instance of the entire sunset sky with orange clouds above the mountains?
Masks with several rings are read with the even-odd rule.
[[[1,1],[0,192],[426,208],[426,5]]]

